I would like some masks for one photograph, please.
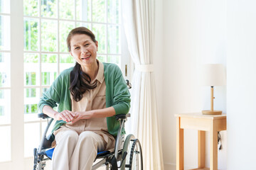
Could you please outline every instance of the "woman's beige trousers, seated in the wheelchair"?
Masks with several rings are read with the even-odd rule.
[[[104,138],[102,135],[91,131],[84,131],[78,135],[75,130],[60,128],[55,135],[57,145],[53,152],[52,169],[92,169],[97,151],[104,151],[107,149],[107,145],[110,145]]]

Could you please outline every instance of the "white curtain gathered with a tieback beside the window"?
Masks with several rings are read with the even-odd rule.
[[[128,48],[135,64],[131,118],[128,123],[142,144],[144,169],[164,169],[156,111],[154,65],[154,0],[122,1]]]

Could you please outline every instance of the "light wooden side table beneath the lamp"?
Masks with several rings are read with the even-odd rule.
[[[198,130],[198,170],[206,168],[206,131],[210,132],[210,170],[218,169],[218,131],[227,130],[226,115],[202,113],[177,114],[176,116],[176,170],[184,169],[183,130]],[[196,170],[196,169],[193,169]]]

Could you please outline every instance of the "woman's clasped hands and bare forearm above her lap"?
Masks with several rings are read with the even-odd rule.
[[[92,111],[73,112],[65,110],[60,113],[55,113],[54,117],[56,120],[64,120],[66,123],[76,123],[80,119],[92,118]]]

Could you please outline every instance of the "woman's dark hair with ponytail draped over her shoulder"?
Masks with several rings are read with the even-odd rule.
[[[73,35],[85,34],[90,36],[93,42],[96,42],[95,35],[89,29],[85,27],[74,28],[70,31],[67,38],[68,51],[70,52],[70,40]],[[80,101],[82,99],[82,94],[90,89],[95,89],[97,86],[97,81],[94,84],[90,84],[90,76],[85,72],[82,72],[81,65],[78,62],[75,63],[75,67],[70,72],[70,92],[75,101]]]

